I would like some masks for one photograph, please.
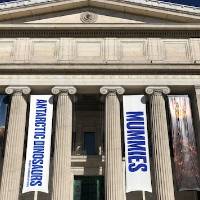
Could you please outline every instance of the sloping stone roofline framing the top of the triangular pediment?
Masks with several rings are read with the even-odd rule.
[[[39,1],[40,3],[31,4],[32,1]],[[172,4],[172,7],[167,7],[166,5],[171,4],[160,3],[156,0],[25,0],[23,1],[23,5],[18,6],[17,3],[19,2],[21,2],[21,0],[15,2],[15,7],[2,9],[0,12],[0,21],[50,12],[58,12],[67,9],[75,9],[79,7],[93,6],[127,13],[159,17],[161,19],[177,22],[200,22],[199,8],[188,6],[178,6],[176,8],[174,4]],[[158,5],[163,5],[163,7]]]

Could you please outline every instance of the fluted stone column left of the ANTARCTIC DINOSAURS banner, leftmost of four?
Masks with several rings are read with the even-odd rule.
[[[5,92],[12,94],[12,100],[8,121],[0,200],[18,200],[27,110],[27,102],[23,94],[29,94],[31,89],[29,87],[7,87]]]

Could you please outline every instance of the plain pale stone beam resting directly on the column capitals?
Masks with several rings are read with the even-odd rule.
[[[78,94],[100,94],[102,86],[123,86],[126,93],[141,94],[149,85],[170,86],[174,91],[191,91],[195,85],[200,85],[200,75],[184,74],[151,74],[151,75],[113,75],[113,74],[1,74],[0,92],[4,92],[7,86],[24,86],[31,88],[32,94],[50,94],[52,87],[74,85]]]

